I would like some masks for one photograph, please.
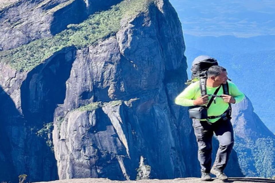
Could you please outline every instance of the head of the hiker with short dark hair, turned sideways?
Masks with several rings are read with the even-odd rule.
[[[225,84],[228,79],[226,69],[219,65],[209,67],[207,77],[217,84]]]

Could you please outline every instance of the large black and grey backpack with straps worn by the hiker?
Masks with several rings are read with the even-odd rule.
[[[196,57],[192,62],[192,76],[190,80],[187,80],[185,84],[189,85],[190,83],[200,81],[201,96],[207,95],[206,93],[206,79],[207,79],[207,70],[213,65],[218,65],[218,61],[210,56],[201,55]],[[229,95],[229,86],[228,82],[222,85],[223,94]],[[213,97],[210,99],[209,103],[213,101]],[[231,115],[231,104],[229,103],[229,116]]]

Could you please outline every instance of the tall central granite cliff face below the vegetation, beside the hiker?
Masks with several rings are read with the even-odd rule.
[[[59,177],[133,180],[141,158],[151,178],[197,176],[189,171],[197,168],[189,162],[196,151],[190,120],[173,104],[183,70],[181,26],[168,1],[123,19],[116,36],[78,50],[54,115]],[[83,110],[87,104],[96,107]]]

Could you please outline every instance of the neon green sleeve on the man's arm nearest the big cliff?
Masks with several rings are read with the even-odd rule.
[[[192,83],[186,87],[175,99],[175,103],[181,106],[194,106],[197,83]]]

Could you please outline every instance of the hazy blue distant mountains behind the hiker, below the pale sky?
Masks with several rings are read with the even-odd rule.
[[[274,35],[238,38],[234,36],[184,35],[188,67],[198,55],[210,55],[228,70],[228,76],[247,95],[255,112],[275,133],[275,80],[272,79],[275,61]],[[190,75],[190,72],[188,73]]]

